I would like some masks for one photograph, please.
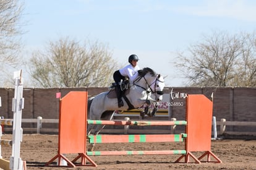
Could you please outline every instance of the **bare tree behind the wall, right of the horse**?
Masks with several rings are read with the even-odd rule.
[[[175,66],[192,86],[254,86],[255,36],[214,32],[191,45],[188,56],[178,53]]]

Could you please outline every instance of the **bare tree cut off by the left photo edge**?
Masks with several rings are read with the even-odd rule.
[[[20,18],[23,2],[19,0],[0,0],[0,64],[1,83],[8,81],[10,68],[15,67],[19,58],[22,23]],[[8,84],[8,82],[7,82]],[[2,85],[2,84],[1,84]]]

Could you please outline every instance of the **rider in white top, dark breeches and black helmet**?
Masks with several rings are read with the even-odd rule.
[[[129,56],[129,65],[126,67],[116,70],[113,74],[114,82],[116,82],[116,95],[117,95],[117,101],[118,101],[118,108],[121,108],[124,106],[124,102],[122,101],[122,89],[121,89],[121,80],[126,79],[125,77],[128,76],[130,83],[132,83],[135,78],[138,75],[138,70],[140,69],[139,66],[137,66],[137,62],[139,61],[139,57],[135,54],[132,54]]]

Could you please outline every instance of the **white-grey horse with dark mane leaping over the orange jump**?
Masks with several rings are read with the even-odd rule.
[[[158,101],[163,100],[164,79],[160,74],[156,74],[152,69],[145,67],[138,71],[138,77],[130,84],[129,93],[122,97],[125,100],[124,106],[118,108],[117,98],[111,97],[109,91],[100,93],[88,100],[88,119],[91,120],[111,120],[116,110],[129,110],[149,106],[157,106]],[[114,90],[112,93],[115,94]],[[151,94],[155,99],[151,98]],[[98,134],[105,125],[88,124],[87,134]]]

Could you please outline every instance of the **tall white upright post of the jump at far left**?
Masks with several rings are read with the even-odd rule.
[[[20,158],[20,142],[22,142],[22,109],[24,108],[22,70],[14,72],[15,91],[12,98],[12,111],[14,122],[12,126],[12,156],[10,158],[10,169],[22,170],[23,161]]]

